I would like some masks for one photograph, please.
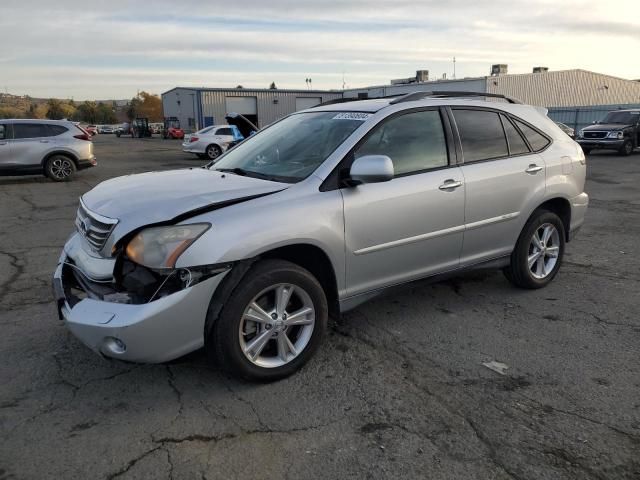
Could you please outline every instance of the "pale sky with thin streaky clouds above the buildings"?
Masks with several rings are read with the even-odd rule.
[[[640,0],[2,0],[0,91],[341,89],[534,66],[640,78]]]

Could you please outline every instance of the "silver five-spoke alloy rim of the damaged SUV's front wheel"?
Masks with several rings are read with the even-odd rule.
[[[286,365],[309,344],[315,325],[309,294],[288,283],[272,285],[256,295],[240,321],[240,348],[263,368]]]

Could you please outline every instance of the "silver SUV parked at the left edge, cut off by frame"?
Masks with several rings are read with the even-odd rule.
[[[0,175],[44,174],[62,182],[95,165],[91,137],[72,122],[0,120]]]

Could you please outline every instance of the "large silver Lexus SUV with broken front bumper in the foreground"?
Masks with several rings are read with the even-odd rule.
[[[584,220],[585,157],[544,111],[487,96],[319,106],[215,165],[98,185],[54,274],[60,318],[109,357],[205,346],[264,381],[388,287],[486,267],[544,287]]]

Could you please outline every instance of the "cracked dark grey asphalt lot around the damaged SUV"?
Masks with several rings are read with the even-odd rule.
[[[202,163],[177,141],[95,143],[99,166],[73,182],[0,177],[0,480],[640,478],[640,153],[588,158],[587,222],[548,288],[499,272],[415,283],[334,319],[297,375],[255,385],[202,352],[104,360],[57,319],[78,196]]]

